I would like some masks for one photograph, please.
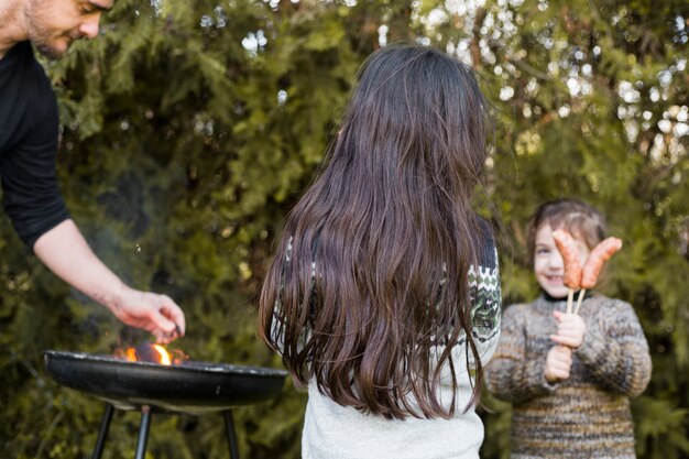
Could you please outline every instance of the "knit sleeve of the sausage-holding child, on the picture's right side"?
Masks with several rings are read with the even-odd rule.
[[[648,342],[632,306],[616,300],[594,320],[576,356],[603,389],[631,397],[644,392],[650,380]]]

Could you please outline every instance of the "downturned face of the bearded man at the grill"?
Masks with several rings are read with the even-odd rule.
[[[114,0],[28,0],[29,40],[44,56],[62,57],[74,40],[98,35],[100,15]]]

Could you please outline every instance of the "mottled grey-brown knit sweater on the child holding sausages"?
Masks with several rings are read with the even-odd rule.
[[[489,390],[513,403],[512,458],[635,458],[630,397],[650,379],[650,356],[632,306],[594,295],[579,314],[587,331],[568,380],[549,384],[546,356],[557,332],[544,297],[508,307],[502,337],[486,367]]]

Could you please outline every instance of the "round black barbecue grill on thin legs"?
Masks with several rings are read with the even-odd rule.
[[[110,356],[45,351],[48,374],[59,384],[106,402],[92,459],[100,459],[114,408],[141,411],[135,459],[143,459],[155,412],[221,412],[230,457],[239,459],[231,409],[275,396],[286,372],[256,367],[185,361],[132,362]]]

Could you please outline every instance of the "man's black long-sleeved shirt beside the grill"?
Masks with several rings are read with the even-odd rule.
[[[55,92],[29,42],[0,59],[0,183],[2,205],[24,243],[69,218],[57,186]]]

